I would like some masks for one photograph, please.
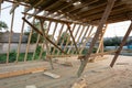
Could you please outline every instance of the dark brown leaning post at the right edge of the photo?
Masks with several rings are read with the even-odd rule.
[[[132,21],[131,21],[130,28],[129,28],[129,30],[127,31],[127,33],[125,33],[125,35],[124,35],[124,37],[123,37],[123,40],[122,40],[122,42],[121,42],[118,51],[116,52],[116,55],[114,55],[114,57],[113,57],[113,59],[112,59],[112,62],[111,62],[111,64],[110,64],[110,67],[113,67],[113,65],[114,65],[114,63],[116,63],[116,61],[117,61],[117,58],[118,58],[118,56],[119,56],[119,54],[120,54],[123,45],[124,45],[125,42],[127,42],[127,38],[129,37],[129,35],[130,35],[130,33],[131,33],[131,31],[132,31]]]

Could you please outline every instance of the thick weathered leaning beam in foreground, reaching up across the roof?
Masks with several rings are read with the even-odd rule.
[[[90,57],[90,54],[91,54],[91,52],[92,52],[92,48],[94,48],[94,46],[95,46],[95,44],[96,44],[96,42],[97,42],[97,40],[98,40],[98,37],[99,37],[99,34],[100,34],[101,31],[102,31],[103,24],[107,22],[107,19],[108,19],[108,16],[109,16],[109,14],[110,14],[110,12],[111,12],[111,10],[112,10],[112,7],[113,7],[113,4],[114,4],[114,1],[116,1],[116,0],[108,0],[107,8],[106,8],[105,13],[103,13],[103,15],[102,15],[102,18],[101,18],[101,21],[100,21],[100,23],[99,23],[99,26],[98,26],[98,30],[97,30],[97,32],[96,32],[96,35],[95,35],[95,37],[94,37],[92,41],[91,41],[89,51],[88,51],[87,55],[84,57],[84,61],[81,61],[81,65],[80,65],[80,67],[79,67],[79,69],[78,69],[78,73],[77,73],[78,77],[81,75],[81,73],[84,72],[84,69],[85,69],[85,67],[86,67],[86,65],[87,65],[87,62],[88,62],[88,59],[89,59],[89,57]]]

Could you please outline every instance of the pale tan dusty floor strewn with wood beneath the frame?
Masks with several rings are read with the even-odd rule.
[[[105,56],[106,59],[88,63],[82,76],[87,82],[87,88],[132,88],[132,56],[119,56],[113,68],[109,67],[112,55]],[[48,62],[29,62],[18,65],[0,65],[0,73],[24,67],[44,66],[47,72],[61,76],[58,79],[45,76],[42,73],[15,76],[0,79],[0,88],[25,88],[25,86],[34,85],[36,88],[72,88],[73,84],[78,79],[76,73],[80,62],[76,57],[55,58],[55,69],[52,70]],[[55,61],[54,59],[54,61]],[[65,62],[72,62],[73,66],[62,65]]]

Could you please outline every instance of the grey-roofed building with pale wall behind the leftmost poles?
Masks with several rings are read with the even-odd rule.
[[[9,35],[10,32],[0,32],[0,54],[7,53],[9,48]],[[12,33],[10,52],[18,50],[18,44],[20,40],[20,33]],[[26,50],[28,35],[22,36],[21,42],[21,53],[24,53]],[[30,45],[31,51],[34,48],[33,45]],[[34,51],[34,50],[33,50]]]

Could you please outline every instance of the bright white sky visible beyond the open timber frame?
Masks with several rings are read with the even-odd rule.
[[[1,9],[6,8],[6,7],[10,7],[10,6],[11,4],[9,2],[4,2],[1,6]],[[10,26],[11,26],[11,16],[12,16],[12,14],[10,14],[10,10],[11,10],[11,7],[2,10],[1,15],[0,15],[0,21],[4,21],[8,24],[9,31],[11,29]],[[22,22],[23,22],[22,21],[23,14],[21,13],[22,11],[23,11],[23,7],[19,7],[15,10],[13,32],[16,32],[16,33],[21,32],[21,26],[22,26]],[[54,25],[55,24],[53,23],[51,28],[54,28]],[[105,37],[123,36],[125,34],[129,25],[130,25],[130,21],[109,24],[108,29],[105,33]],[[29,25],[25,24],[24,30],[28,30],[28,26]],[[130,35],[132,36],[132,33]]]

